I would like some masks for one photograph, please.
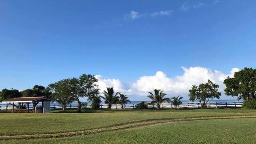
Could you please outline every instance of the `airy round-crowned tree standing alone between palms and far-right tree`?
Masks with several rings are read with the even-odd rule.
[[[221,93],[218,92],[219,85],[214,84],[212,81],[208,80],[206,84],[200,84],[199,86],[192,86],[192,89],[189,90],[189,100],[194,102],[199,100],[202,108],[206,107],[207,102],[210,99],[218,98],[220,99]]]

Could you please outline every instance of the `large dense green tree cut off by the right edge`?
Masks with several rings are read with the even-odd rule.
[[[224,80],[226,88],[224,92],[227,96],[238,96],[238,99],[246,101],[256,98],[256,69],[244,68],[235,72],[234,78]]]

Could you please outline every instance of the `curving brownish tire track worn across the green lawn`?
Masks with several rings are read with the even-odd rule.
[[[131,130],[131,129],[145,128],[148,126],[157,126],[160,124],[166,124],[166,123],[170,123],[170,122],[184,122],[184,121],[192,121],[192,120],[237,119],[237,118],[256,118],[256,115],[208,116],[208,117],[194,117],[194,118],[145,120],[145,121],[124,123],[122,125],[118,124],[116,126],[96,128],[96,129],[92,129],[92,130],[75,131],[75,132],[62,132],[62,133],[55,133],[55,134],[25,134],[25,135],[0,136],[0,140],[61,138],[61,137],[71,137],[71,136],[88,135],[88,134],[96,134],[96,133],[104,133],[104,132],[114,132],[114,131],[118,131],[118,130]]]

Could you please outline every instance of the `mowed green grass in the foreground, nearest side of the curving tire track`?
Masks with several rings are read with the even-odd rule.
[[[5,144],[255,144],[256,118],[172,122],[101,134],[2,142]]]

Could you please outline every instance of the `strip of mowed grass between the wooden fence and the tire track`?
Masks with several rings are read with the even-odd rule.
[[[104,128],[142,120],[192,118],[203,116],[256,115],[246,109],[163,109],[163,110],[97,110],[76,113],[52,111],[50,114],[0,113],[0,136],[53,134]]]

